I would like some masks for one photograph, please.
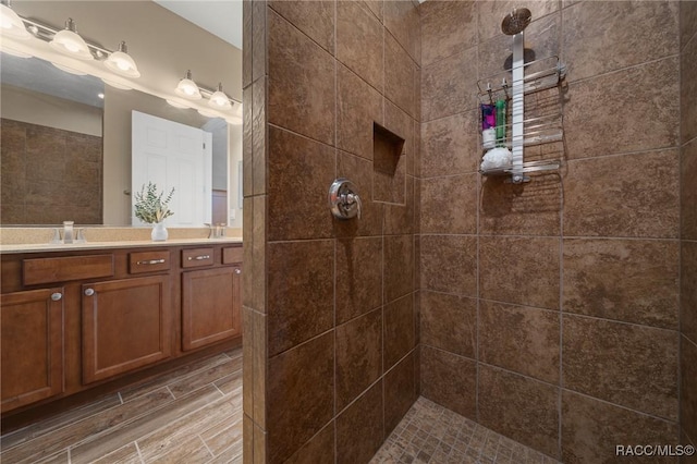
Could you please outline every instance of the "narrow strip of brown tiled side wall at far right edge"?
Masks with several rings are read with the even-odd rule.
[[[681,400],[684,444],[697,444],[697,2],[680,3]],[[685,464],[697,462],[684,457]]]

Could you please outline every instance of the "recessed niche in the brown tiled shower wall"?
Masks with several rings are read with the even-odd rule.
[[[405,204],[406,150],[404,138],[372,124],[372,200]]]

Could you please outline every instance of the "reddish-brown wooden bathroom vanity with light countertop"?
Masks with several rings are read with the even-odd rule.
[[[242,343],[240,240],[3,246],[1,258],[3,422]]]

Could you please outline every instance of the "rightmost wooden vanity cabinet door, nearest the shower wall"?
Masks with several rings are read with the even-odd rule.
[[[241,333],[241,266],[182,274],[182,350]]]

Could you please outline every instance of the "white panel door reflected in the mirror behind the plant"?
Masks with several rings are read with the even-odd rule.
[[[173,216],[168,227],[203,227],[211,218],[211,134],[197,127],[132,112],[131,216],[135,192],[152,182],[164,195],[174,187],[170,202]]]

